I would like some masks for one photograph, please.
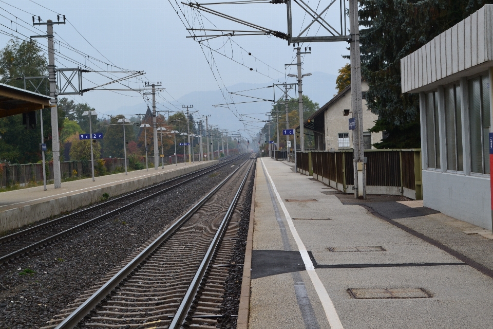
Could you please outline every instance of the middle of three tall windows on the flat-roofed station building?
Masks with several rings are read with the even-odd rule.
[[[461,87],[445,88],[445,131],[447,134],[447,169],[463,171]]]

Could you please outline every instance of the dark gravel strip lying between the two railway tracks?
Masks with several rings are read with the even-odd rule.
[[[241,161],[242,162],[242,161]],[[241,163],[237,161],[236,163]],[[36,328],[170,225],[234,168],[226,166],[0,268],[0,327]]]

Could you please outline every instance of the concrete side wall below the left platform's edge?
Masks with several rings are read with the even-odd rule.
[[[40,221],[44,218],[58,215],[65,211],[72,211],[79,207],[99,202],[101,201],[104,193],[108,193],[111,197],[121,195],[167,179],[191,173],[195,170],[215,165],[217,162],[218,161],[206,161],[192,167],[180,168],[145,178],[122,182],[120,184],[97,190],[85,191],[78,194],[48,200],[46,202],[9,209],[0,212],[0,232],[15,229],[36,221]]]

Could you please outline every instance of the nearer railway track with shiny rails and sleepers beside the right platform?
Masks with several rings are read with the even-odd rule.
[[[44,328],[215,328],[235,246],[247,160]]]

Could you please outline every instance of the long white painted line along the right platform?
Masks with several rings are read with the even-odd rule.
[[[282,211],[286,216],[286,221],[288,222],[289,229],[291,230],[291,234],[293,234],[293,238],[296,241],[296,244],[299,249],[299,253],[301,254],[301,258],[305,263],[305,268],[307,269],[308,276],[310,277],[310,280],[312,281],[312,284],[315,287],[315,290],[317,291],[318,298],[320,299],[320,302],[324,307],[325,315],[327,316],[327,320],[329,321],[330,327],[331,329],[343,329],[343,324],[340,322],[334,304],[332,303],[332,300],[330,299],[329,294],[327,293],[327,290],[324,287],[324,284],[320,281],[320,278],[318,277],[317,272],[313,267],[312,260],[308,255],[308,251],[307,248],[305,247],[305,244],[301,241],[301,238],[298,235],[298,231],[296,231],[296,228],[294,227],[293,220],[291,219],[291,215],[289,214],[286,205],[282,202],[281,196],[277,192],[274,181],[272,180],[271,175],[269,175],[269,171],[267,170],[265,163],[263,163],[263,159],[260,159],[260,161],[262,161],[262,166],[266,170],[267,177],[269,177],[269,180],[271,181],[272,189],[274,190],[274,193],[277,196],[277,201],[279,202]]]

